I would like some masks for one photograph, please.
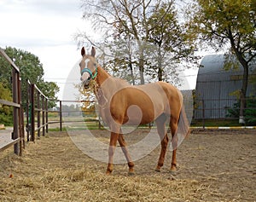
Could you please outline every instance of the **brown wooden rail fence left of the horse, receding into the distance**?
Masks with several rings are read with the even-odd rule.
[[[12,101],[0,99],[0,107],[9,106],[13,107],[13,127],[12,131],[7,132],[3,130],[0,136],[0,152],[14,146],[14,153],[17,155],[22,154],[22,148],[25,148],[25,139],[27,141],[35,141],[35,135],[38,137],[45,136],[48,132],[49,124],[62,124],[65,123],[62,119],[62,101],[58,101],[60,108],[58,111],[50,111],[48,104],[49,98],[45,96],[36,84],[27,81],[27,95],[26,106],[21,106],[21,79],[20,68],[5,54],[3,49],[0,48],[0,55],[9,62],[12,69],[11,82],[12,82]],[[68,101],[70,102],[70,101]],[[84,101],[72,101],[84,102]],[[26,138],[24,126],[24,110],[26,109]],[[59,119],[57,121],[49,121],[49,113],[58,113]],[[98,121],[98,120],[95,120]],[[67,122],[67,121],[66,121]],[[77,120],[69,121],[77,122]],[[99,124],[100,125],[100,124]]]

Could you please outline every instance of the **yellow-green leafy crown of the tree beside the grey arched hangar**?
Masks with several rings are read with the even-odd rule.
[[[213,47],[224,47],[230,38],[240,46],[241,53],[255,51],[256,12],[252,0],[196,0],[189,9],[191,26]],[[216,40],[218,43],[216,43]]]

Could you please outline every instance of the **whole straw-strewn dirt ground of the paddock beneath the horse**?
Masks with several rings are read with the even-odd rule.
[[[126,141],[147,132],[135,130]],[[93,133],[108,140],[106,130]],[[178,147],[176,175],[170,151],[154,171],[159,154],[157,147],[137,160],[135,176],[126,164],[105,176],[107,164],[82,153],[67,132],[49,132],[21,158],[1,153],[0,201],[256,201],[256,130],[192,130]]]

